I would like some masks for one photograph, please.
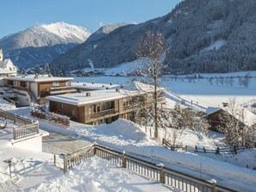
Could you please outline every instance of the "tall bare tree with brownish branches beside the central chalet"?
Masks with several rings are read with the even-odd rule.
[[[140,66],[137,66],[134,70],[142,77],[144,83],[147,82],[153,90],[153,115],[150,116],[153,119],[155,139],[159,136],[159,81],[165,68],[163,62],[165,51],[166,43],[163,34],[152,31],[148,31],[145,37],[140,40],[136,51]]]

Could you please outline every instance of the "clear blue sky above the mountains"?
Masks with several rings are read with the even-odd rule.
[[[0,38],[42,23],[67,22],[96,31],[116,22],[146,22],[181,0],[0,0]]]

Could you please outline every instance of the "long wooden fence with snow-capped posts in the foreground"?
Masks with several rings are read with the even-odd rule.
[[[78,152],[64,155],[64,171],[93,156],[106,159],[122,168],[132,170],[141,176],[149,177],[153,180],[165,183],[166,185],[183,191],[235,191],[216,184],[215,182],[211,183],[203,180],[202,178],[194,177],[178,170],[172,170],[165,167],[164,164],[154,164],[141,158],[135,158],[134,156],[128,155],[125,152],[116,152],[109,148],[97,145],[88,146],[82,150],[79,150]]]

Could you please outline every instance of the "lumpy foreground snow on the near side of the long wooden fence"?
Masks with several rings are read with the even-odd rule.
[[[15,159],[14,159],[15,160]],[[53,159],[41,162],[33,158],[16,159],[13,182],[6,178],[1,183],[1,191],[178,191],[158,182],[124,170],[101,158],[91,158],[68,170],[53,166]],[[9,177],[1,174],[2,177]]]

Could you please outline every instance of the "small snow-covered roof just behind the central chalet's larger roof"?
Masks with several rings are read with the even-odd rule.
[[[72,86],[74,88],[80,90],[106,90],[106,89],[116,89],[119,88],[119,84],[96,84],[96,83],[88,83],[88,82],[72,82]]]

